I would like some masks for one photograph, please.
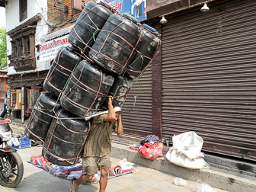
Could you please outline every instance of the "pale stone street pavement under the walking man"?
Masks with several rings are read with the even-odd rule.
[[[43,171],[34,165],[27,163],[31,156],[40,155],[41,147],[18,149],[24,163],[24,176],[22,181],[14,189],[5,188],[0,185],[1,192],[69,192],[69,181],[54,177],[49,172]],[[119,162],[118,158],[111,158],[111,161]],[[185,187],[174,185],[174,176],[146,168],[141,165],[134,165],[133,174],[125,174],[120,177],[108,180],[106,192],[189,192],[194,191],[198,186],[194,181],[187,181]],[[226,190],[215,189],[216,192]],[[79,191],[99,191],[99,184],[81,185]]]

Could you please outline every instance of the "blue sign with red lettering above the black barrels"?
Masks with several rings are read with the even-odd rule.
[[[146,19],[146,0],[104,0],[120,14],[127,13],[139,21]]]

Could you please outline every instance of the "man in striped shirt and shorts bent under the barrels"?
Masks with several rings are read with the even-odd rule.
[[[107,175],[110,168],[111,135],[115,131],[117,136],[123,134],[121,111],[115,112],[112,105],[113,98],[108,99],[108,114],[94,117],[92,128],[85,142],[83,155],[83,174],[78,179],[72,179],[70,191],[77,192],[78,186],[90,181],[94,174],[101,170],[100,192],[107,187]]]

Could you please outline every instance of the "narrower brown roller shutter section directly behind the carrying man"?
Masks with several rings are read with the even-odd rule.
[[[142,77],[133,81],[122,110],[123,133],[139,139],[152,134],[152,64],[148,66]],[[141,93],[139,94],[139,86]],[[133,108],[134,97],[136,105]],[[129,110],[132,109],[130,112]]]

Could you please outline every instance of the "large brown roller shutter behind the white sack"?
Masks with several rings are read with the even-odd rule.
[[[256,161],[256,1],[209,4],[162,29],[162,136]]]

